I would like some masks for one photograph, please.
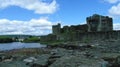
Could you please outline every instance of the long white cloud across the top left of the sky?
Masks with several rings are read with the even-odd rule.
[[[27,10],[33,10],[37,14],[52,14],[57,8],[56,0],[46,3],[41,0],[0,0],[0,8],[18,6]]]

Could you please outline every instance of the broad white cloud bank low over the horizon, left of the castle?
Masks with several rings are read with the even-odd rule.
[[[51,27],[53,23],[56,22],[51,22],[46,18],[31,19],[29,21],[0,19],[0,35],[46,35],[51,32]]]

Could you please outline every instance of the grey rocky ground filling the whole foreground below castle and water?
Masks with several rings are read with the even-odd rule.
[[[120,67],[120,40],[1,51],[0,67]]]

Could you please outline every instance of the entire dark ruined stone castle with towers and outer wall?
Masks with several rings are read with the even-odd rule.
[[[61,28],[61,24],[52,26],[52,34],[42,36],[45,41],[80,41],[92,39],[119,39],[120,31],[113,30],[113,19],[108,16],[94,14],[86,18],[86,24],[71,25]]]

